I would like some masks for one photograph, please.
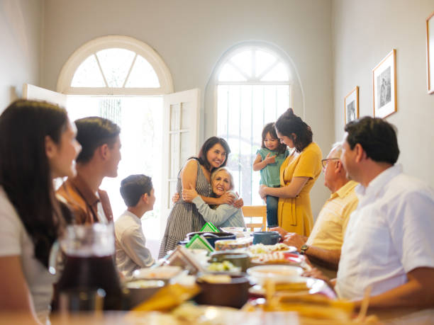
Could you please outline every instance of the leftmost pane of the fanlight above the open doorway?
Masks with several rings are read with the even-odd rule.
[[[90,55],[79,65],[71,81],[72,87],[105,87],[101,70],[94,55]]]

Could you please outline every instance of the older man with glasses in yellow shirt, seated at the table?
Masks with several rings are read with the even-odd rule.
[[[295,246],[298,251],[306,254],[329,277],[336,276],[345,229],[358,202],[354,191],[357,183],[347,178],[347,172],[339,158],[341,153],[342,144],[333,144],[327,158],[321,161],[324,185],[332,194],[319,212],[311,235],[306,237],[287,233],[280,227],[270,229],[282,234],[285,244]]]

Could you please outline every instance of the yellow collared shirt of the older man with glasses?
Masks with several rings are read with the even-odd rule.
[[[348,181],[330,195],[319,212],[306,245],[333,251],[341,248],[348,219],[359,202],[356,186],[357,182]]]

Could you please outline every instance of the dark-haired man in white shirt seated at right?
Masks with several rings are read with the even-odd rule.
[[[350,216],[335,290],[369,307],[433,307],[434,190],[396,166],[394,127],[379,118],[345,126],[341,161],[359,205]]]

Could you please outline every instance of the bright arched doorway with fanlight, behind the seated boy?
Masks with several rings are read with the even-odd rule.
[[[139,40],[106,36],[79,47],[57,81],[67,94],[69,118],[100,116],[121,127],[122,160],[118,177],[104,178],[115,219],[126,210],[121,180],[135,173],[152,177],[156,203],[142,221],[151,251],[157,251],[162,183],[163,98],[173,93],[172,76],[160,55]]]

